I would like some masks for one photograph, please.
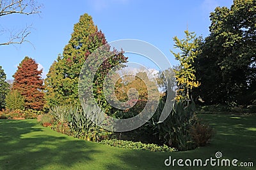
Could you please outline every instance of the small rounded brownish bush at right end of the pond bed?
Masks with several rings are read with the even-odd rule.
[[[191,127],[190,134],[196,146],[205,146],[209,143],[214,132],[208,124],[204,124],[202,120],[196,120],[195,124]]]

